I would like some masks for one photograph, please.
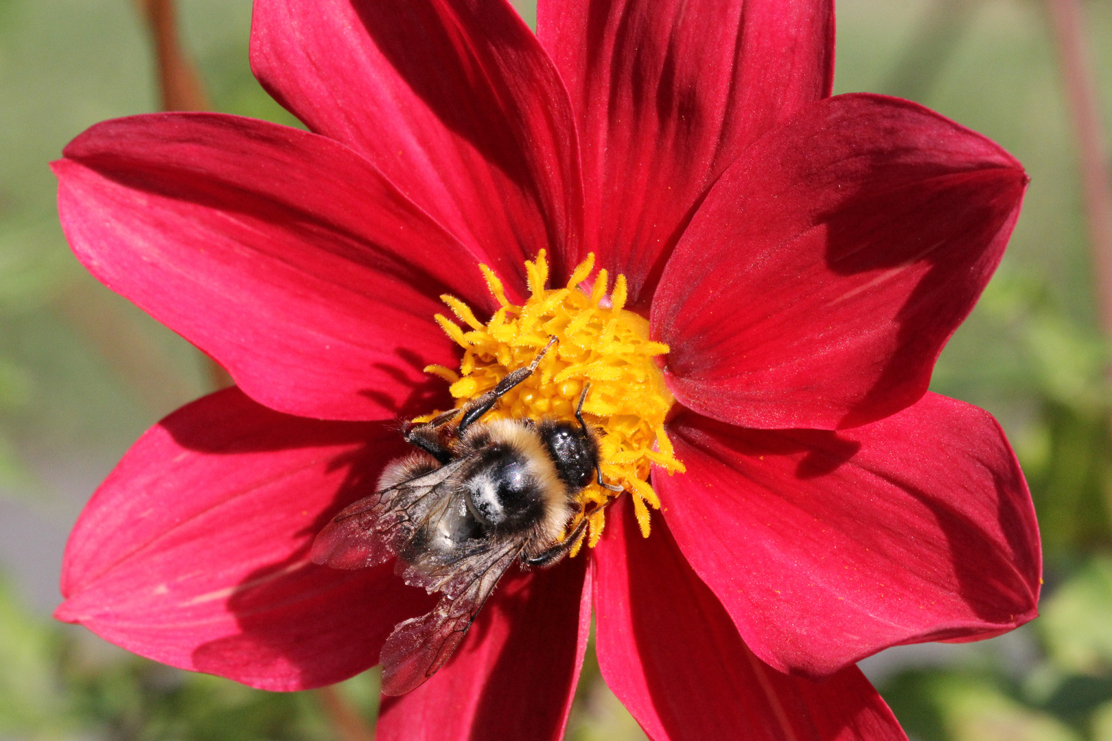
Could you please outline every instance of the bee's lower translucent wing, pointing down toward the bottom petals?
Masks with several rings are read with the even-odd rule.
[[[434,553],[403,570],[407,583],[439,591],[441,597],[431,612],[398,623],[386,639],[379,657],[384,694],[405,694],[444,665],[498,580],[522,554],[525,538],[481,543],[450,563]]]

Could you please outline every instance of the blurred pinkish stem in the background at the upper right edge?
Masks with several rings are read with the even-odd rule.
[[[1076,137],[1096,306],[1104,333],[1112,337],[1112,183],[1096,89],[1086,59],[1084,19],[1079,0],[1048,0],[1048,6]]]

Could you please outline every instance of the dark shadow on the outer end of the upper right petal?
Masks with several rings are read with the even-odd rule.
[[[875,157],[883,171],[885,158]],[[1025,181],[1021,170],[1004,168],[941,173],[863,192],[818,218],[826,228],[826,267],[868,278],[843,298],[867,302],[861,293],[902,287],[894,291],[902,304],[891,319],[897,327],[892,352],[840,427],[894,413],[926,391],[935,359],[1003,256]]]

